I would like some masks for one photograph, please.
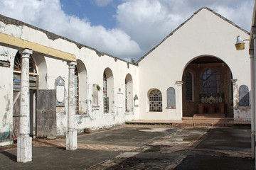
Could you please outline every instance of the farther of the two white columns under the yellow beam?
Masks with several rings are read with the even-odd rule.
[[[75,66],[76,62],[68,62],[68,133],[66,149],[75,150],[78,146],[77,131],[75,130]]]

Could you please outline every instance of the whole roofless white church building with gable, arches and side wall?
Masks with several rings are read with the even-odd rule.
[[[238,35],[250,38],[204,7],[131,63],[0,16],[0,143],[130,120],[250,120],[249,42],[235,50]]]

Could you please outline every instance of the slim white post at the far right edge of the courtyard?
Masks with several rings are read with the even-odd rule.
[[[251,71],[251,145],[252,159],[255,158],[255,61],[254,52],[250,52],[250,71]]]

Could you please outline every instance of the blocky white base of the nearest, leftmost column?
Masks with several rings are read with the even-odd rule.
[[[17,162],[32,161],[32,137],[17,138]]]

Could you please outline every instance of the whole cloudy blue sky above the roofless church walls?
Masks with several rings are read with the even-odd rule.
[[[254,0],[0,0],[0,14],[135,61],[203,6],[250,31]]]

